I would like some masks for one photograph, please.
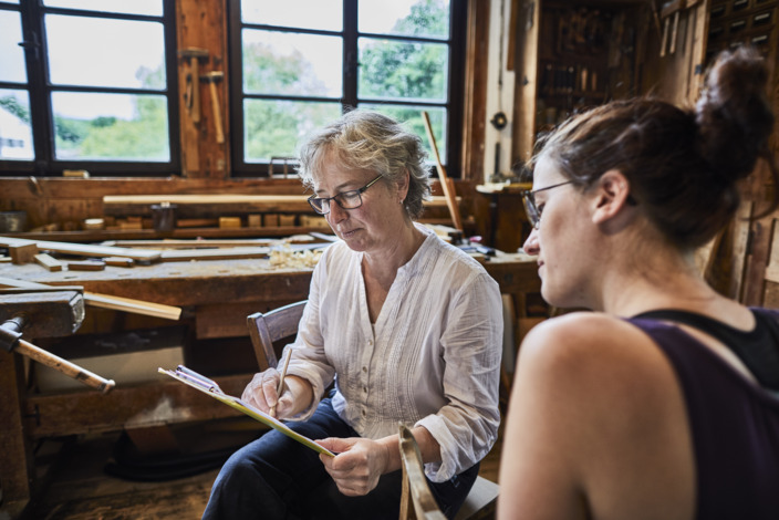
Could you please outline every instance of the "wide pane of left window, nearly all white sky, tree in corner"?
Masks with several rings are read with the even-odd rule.
[[[162,23],[49,14],[45,25],[52,83],[165,89]]]

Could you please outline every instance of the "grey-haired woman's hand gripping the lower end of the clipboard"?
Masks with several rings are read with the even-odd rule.
[[[320,459],[339,490],[347,497],[367,495],[390,470],[391,456],[385,443],[357,437],[328,438],[316,444],[337,454],[335,457],[320,455]],[[397,450],[397,440],[394,446]]]

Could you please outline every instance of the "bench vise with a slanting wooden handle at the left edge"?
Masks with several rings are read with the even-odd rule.
[[[0,292],[0,347],[54,368],[104,394],[115,386],[62,357],[22,340],[59,337],[74,333],[84,320],[82,288],[4,289]]]

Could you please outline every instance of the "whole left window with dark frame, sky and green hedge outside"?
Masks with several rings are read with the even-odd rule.
[[[0,0],[0,170],[178,170],[173,0]]]

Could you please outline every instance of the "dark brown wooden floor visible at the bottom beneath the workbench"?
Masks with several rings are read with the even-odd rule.
[[[167,481],[131,481],[106,475],[118,435],[79,439],[60,450],[50,483],[25,518],[35,520],[197,519],[218,468]],[[498,480],[501,439],[479,475]]]

